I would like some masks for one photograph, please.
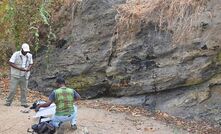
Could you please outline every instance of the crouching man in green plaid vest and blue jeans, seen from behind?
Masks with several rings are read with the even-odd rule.
[[[48,107],[54,102],[56,112],[54,117],[52,117],[52,125],[58,128],[62,122],[70,121],[72,129],[76,130],[77,107],[74,106],[74,102],[81,97],[74,89],[65,86],[64,78],[57,78],[56,86],[58,89],[50,94],[49,100],[46,103],[38,105],[36,111],[41,107]]]

